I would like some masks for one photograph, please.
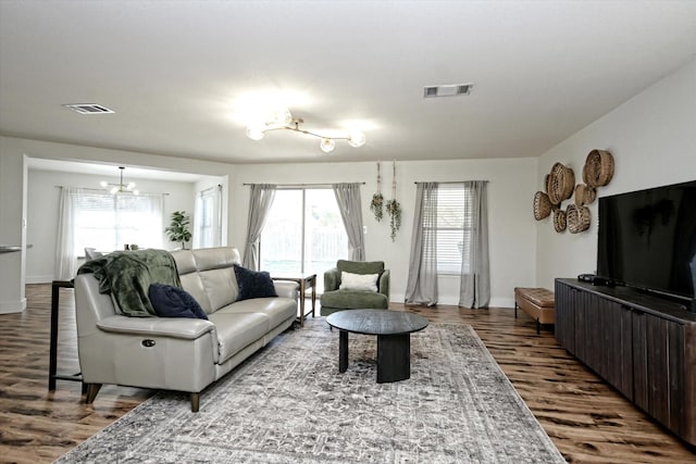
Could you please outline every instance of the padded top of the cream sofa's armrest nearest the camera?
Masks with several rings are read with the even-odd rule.
[[[113,315],[97,323],[103,331],[146,336],[163,336],[195,340],[215,330],[215,324],[188,317],[126,317]]]

